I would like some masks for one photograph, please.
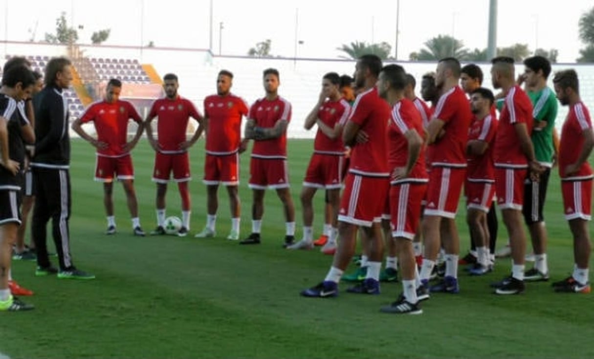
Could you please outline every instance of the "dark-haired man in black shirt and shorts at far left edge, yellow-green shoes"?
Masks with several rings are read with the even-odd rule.
[[[0,311],[30,310],[33,306],[12,296],[10,268],[12,245],[21,224],[20,186],[25,159],[24,141],[34,141],[33,128],[17,109],[31,96],[35,79],[26,66],[11,66],[2,75],[0,89]],[[33,294],[33,293],[30,293]]]

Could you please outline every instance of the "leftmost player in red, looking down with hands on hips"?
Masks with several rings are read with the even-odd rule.
[[[138,201],[134,190],[134,167],[130,151],[143,134],[143,120],[131,103],[119,99],[122,82],[112,78],[105,89],[105,99],[91,104],[83,115],[74,120],[72,129],[81,138],[97,149],[95,180],[103,182],[103,204],[107,214],[108,229],[105,234],[116,231],[113,215],[113,180],[124,186],[128,210],[132,217],[132,231],[135,236],[144,236],[138,219]],[[138,128],[132,141],[128,142],[128,122],[134,120]],[[93,122],[97,138],[84,131],[83,123]]]

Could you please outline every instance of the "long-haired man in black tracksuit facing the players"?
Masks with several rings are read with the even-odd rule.
[[[72,81],[71,62],[67,58],[52,58],[45,68],[45,87],[33,99],[35,107],[35,147],[31,167],[35,182],[35,205],[31,236],[37,252],[35,275],[58,273],[58,278],[94,279],[72,262],[70,252],[70,135],[68,106],[64,89]],[[46,227],[52,219],[53,242],[58,252],[59,270],[48,256]]]

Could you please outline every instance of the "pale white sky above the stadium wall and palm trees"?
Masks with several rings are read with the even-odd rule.
[[[55,33],[62,11],[69,24],[80,27],[79,43],[90,43],[93,31],[109,28],[105,45],[153,42],[222,55],[246,55],[270,39],[275,56],[336,59],[343,55],[337,47],[363,41],[387,42],[392,56],[407,60],[439,34],[454,36],[469,49],[484,49],[488,35],[489,0],[0,1],[0,39],[10,41],[43,40],[45,33]],[[558,62],[574,62],[584,47],[578,21],[592,7],[592,0],[498,0],[497,46],[558,49]]]

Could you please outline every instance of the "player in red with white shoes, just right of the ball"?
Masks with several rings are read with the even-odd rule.
[[[204,99],[206,119],[206,158],[204,184],[207,192],[206,227],[197,238],[213,237],[217,218],[219,183],[227,188],[231,207],[231,231],[228,240],[239,239],[241,203],[239,202],[239,154],[245,151],[247,140],[241,140],[241,119],[248,115],[248,105],[241,97],[230,93],[233,74],[221,70],[217,77],[217,94]]]

